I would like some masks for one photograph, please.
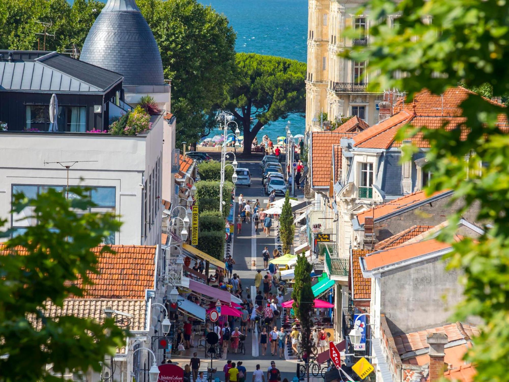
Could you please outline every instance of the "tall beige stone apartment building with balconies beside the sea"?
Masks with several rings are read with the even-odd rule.
[[[358,116],[370,126],[378,122],[381,93],[366,91],[367,62],[353,62],[338,53],[345,47],[369,44],[367,15],[356,15],[363,1],[308,0],[306,132],[322,130],[321,112],[333,122]],[[389,20],[391,21],[391,20]],[[353,26],[358,38],[344,35]]]

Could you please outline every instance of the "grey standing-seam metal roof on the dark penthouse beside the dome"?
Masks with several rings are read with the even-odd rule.
[[[119,73],[80,62],[56,52],[50,52],[33,60],[0,62],[0,91],[104,93],[122,81],[122,78]]]

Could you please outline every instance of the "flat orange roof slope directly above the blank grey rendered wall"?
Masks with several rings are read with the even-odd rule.
[[[394,264],[403,260],[426,255],[428,253],[450,248],[450,243],[444,243],[435,239],[419,241],[412,244],[403,244],[380,252],[374,252],[363,257],[366,270],[373,270],[382,266]]]

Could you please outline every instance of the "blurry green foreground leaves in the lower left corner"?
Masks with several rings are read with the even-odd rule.
[[[0,380],[61,380],[47,375],[53,371],[101,370],[105,354],[125,346],[128,334],[113,319],[99,324],[92,319],[63,316],[57,319],[44,313],[44,304],[62,307],[71,295],[82,296],[76,286],[90,284],[90,274],[98,272],[92,251],[120,222],[110,213],[77,213],[94,206],[83,188],[71,188],[80,198],[66,200],[62,192],[49,189],[37,199],[14,196],[13,212],[34,208],[38,224],[5,243],[8,255],[0,256]],[[29,207],[33,206],[33,207]],[[4,224],[5,222],[2,222]],[[7,232],[9,235],[9,232]],[[23,248],[24,254],[17,250]],[[102,253],[112,253],[107,246]],[[39,320],[42,328],[33,326]]]

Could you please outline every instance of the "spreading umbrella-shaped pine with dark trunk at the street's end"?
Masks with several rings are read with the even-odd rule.
[[[306,105],[306,64],[282,57],[237,53],[235,79],[221,104],[243,129],[244,153],[269,122],[303,115]],[[251,128],[252,119],[256,123]]]

